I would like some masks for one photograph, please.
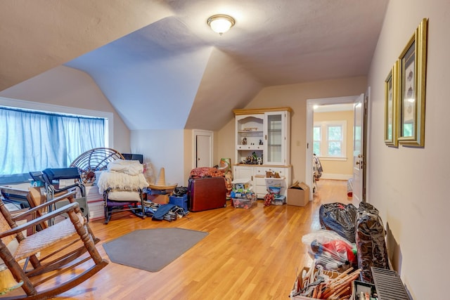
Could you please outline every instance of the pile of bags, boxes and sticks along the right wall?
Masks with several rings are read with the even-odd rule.
[[[357,209],[322,204],[319,221],[321,230],[302,236],[312,263],[297,274],[291,299],[409,299],[397,272],[390,270],[378,209],[366,202]],[[384,278],[377,282],[377,276]]]

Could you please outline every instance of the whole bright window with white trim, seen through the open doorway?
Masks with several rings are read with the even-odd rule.
[[[314,122],[314,153],[325,159],[347,159],[347,121]]]

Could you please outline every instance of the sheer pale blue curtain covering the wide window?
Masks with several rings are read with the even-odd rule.
[[[104,146],[103,118],[0,107],[0,183],[68,167],[83,152]]]

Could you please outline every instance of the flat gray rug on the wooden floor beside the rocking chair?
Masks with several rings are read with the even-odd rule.
[[[158,272],[206,235],[183,228],[141,229],[105,242],[103,248],[114,263]]]

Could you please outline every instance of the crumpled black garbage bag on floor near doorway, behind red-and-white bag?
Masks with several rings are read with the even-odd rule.
[[[323,229],[333,230],[354,243],[356,211],[356,207],[351,203],[322,204],[319,209],[319,221]]]

